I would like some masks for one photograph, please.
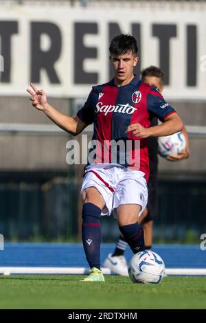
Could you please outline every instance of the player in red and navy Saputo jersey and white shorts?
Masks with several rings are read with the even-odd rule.
[[[124,34],[115,36],[109,51],[114,78],[92,88],[75,118],[52,107],[43,90],[34,85],[31,85],[33,91],[27,89],[33,106],[72,135],[78,135],[89,124],[94,126],[93,146],[81,190],[82,241],[91,267],[83,282],[104,281],[100,268],[101,215],[113,212],[134,254],[145,249],[138,216],[146,208],[148,199],[146,138],[170,135],[183,128],[181,118],[166,104],[156,87],[146,85],[133,74],[139,60],[135,38]],[[163,123],[149,128],[154,115]]]

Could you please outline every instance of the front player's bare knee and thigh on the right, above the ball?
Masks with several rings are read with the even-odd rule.
[[[117,208],[117,221],[118,225],[137,223],[138,214],[141,211],[141,205],[139,204],[121,204]]]

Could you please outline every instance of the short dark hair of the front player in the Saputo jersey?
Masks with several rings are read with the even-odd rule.
[[[112,39],[109,46],[109,52],[111,55],[124,55],[130,51],[132,51],[133,55],[137,56],[137,41],[133,36],[129,34],[120,34]]]

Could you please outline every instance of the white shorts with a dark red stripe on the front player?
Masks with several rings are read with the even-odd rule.
[[[144,172],[130,170],[122,166],[87,166],[81,193],[89,187],[95,187],[102,194],[105,205],[101,215],[110,215],[117,219],[117,208],[121,204],[139,204],[141,212],[148,203],[148,189]]]

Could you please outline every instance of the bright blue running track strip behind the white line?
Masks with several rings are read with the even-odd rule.
[[[102,244],[102,262],[114,244]],[[154,245],[167,268],[206,268],[206,250],[199,245]],[[126,249],[126,260],[132,252]],[[81,244],[5,243],[0,251],[1,267],[88,267]]]

